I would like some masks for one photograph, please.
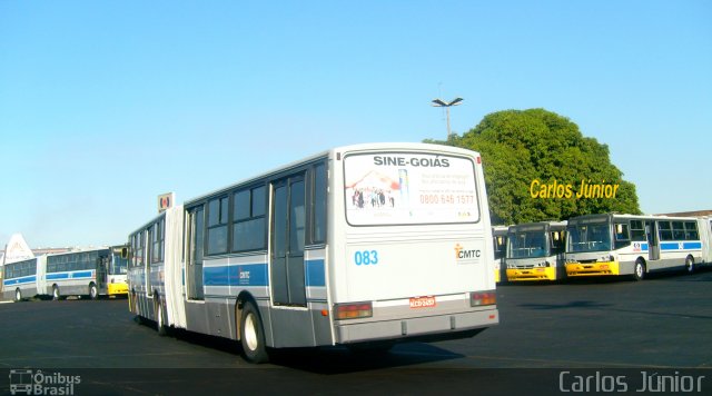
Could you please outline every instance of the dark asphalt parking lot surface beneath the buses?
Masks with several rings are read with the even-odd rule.
[[[229,340],[187,331],[159,337],[134,320],[125,299],[0,304],[0,366],[83,373],[88,379],[77,388],[118,394],[228,390],[234,382],[255,392],[326,394],[437,393],[475,384],[506,394],[526,383],[551,394],[561,390],[564,370],[704,375],[704,393],[712,390],[709,268],[644,281],[503,285],[497,305],[501,324],[473,338],[402,344],[382,356],[285,350],[254,366]],[[9,390],[9,383],[0,385]]]

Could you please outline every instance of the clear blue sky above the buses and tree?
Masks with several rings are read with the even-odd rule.
[[[162,192],[443,139],[436,97],[465,98],[459,133],[565,116],[644,212],[712,209],[711,21],[705,0],[0,0],[0,245],[120,244]]]

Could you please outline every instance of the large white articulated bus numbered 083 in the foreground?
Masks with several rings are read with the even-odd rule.
[[[240,340],[255,363],[267,347],[474,336],[498,323],[481,162],[348,146],[187,201],[129,236],[130,309],[161,333]]]

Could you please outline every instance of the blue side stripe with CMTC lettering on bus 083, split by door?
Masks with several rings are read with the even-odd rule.
[[[324,259],[305,261],[306,286],[326,286]],[[269,286],[267,264],[202,267],[205,286]]]

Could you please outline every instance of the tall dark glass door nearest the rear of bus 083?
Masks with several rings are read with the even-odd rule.
[[[304,174],[273,182],[270,274],[273,303],[306,307]]]

